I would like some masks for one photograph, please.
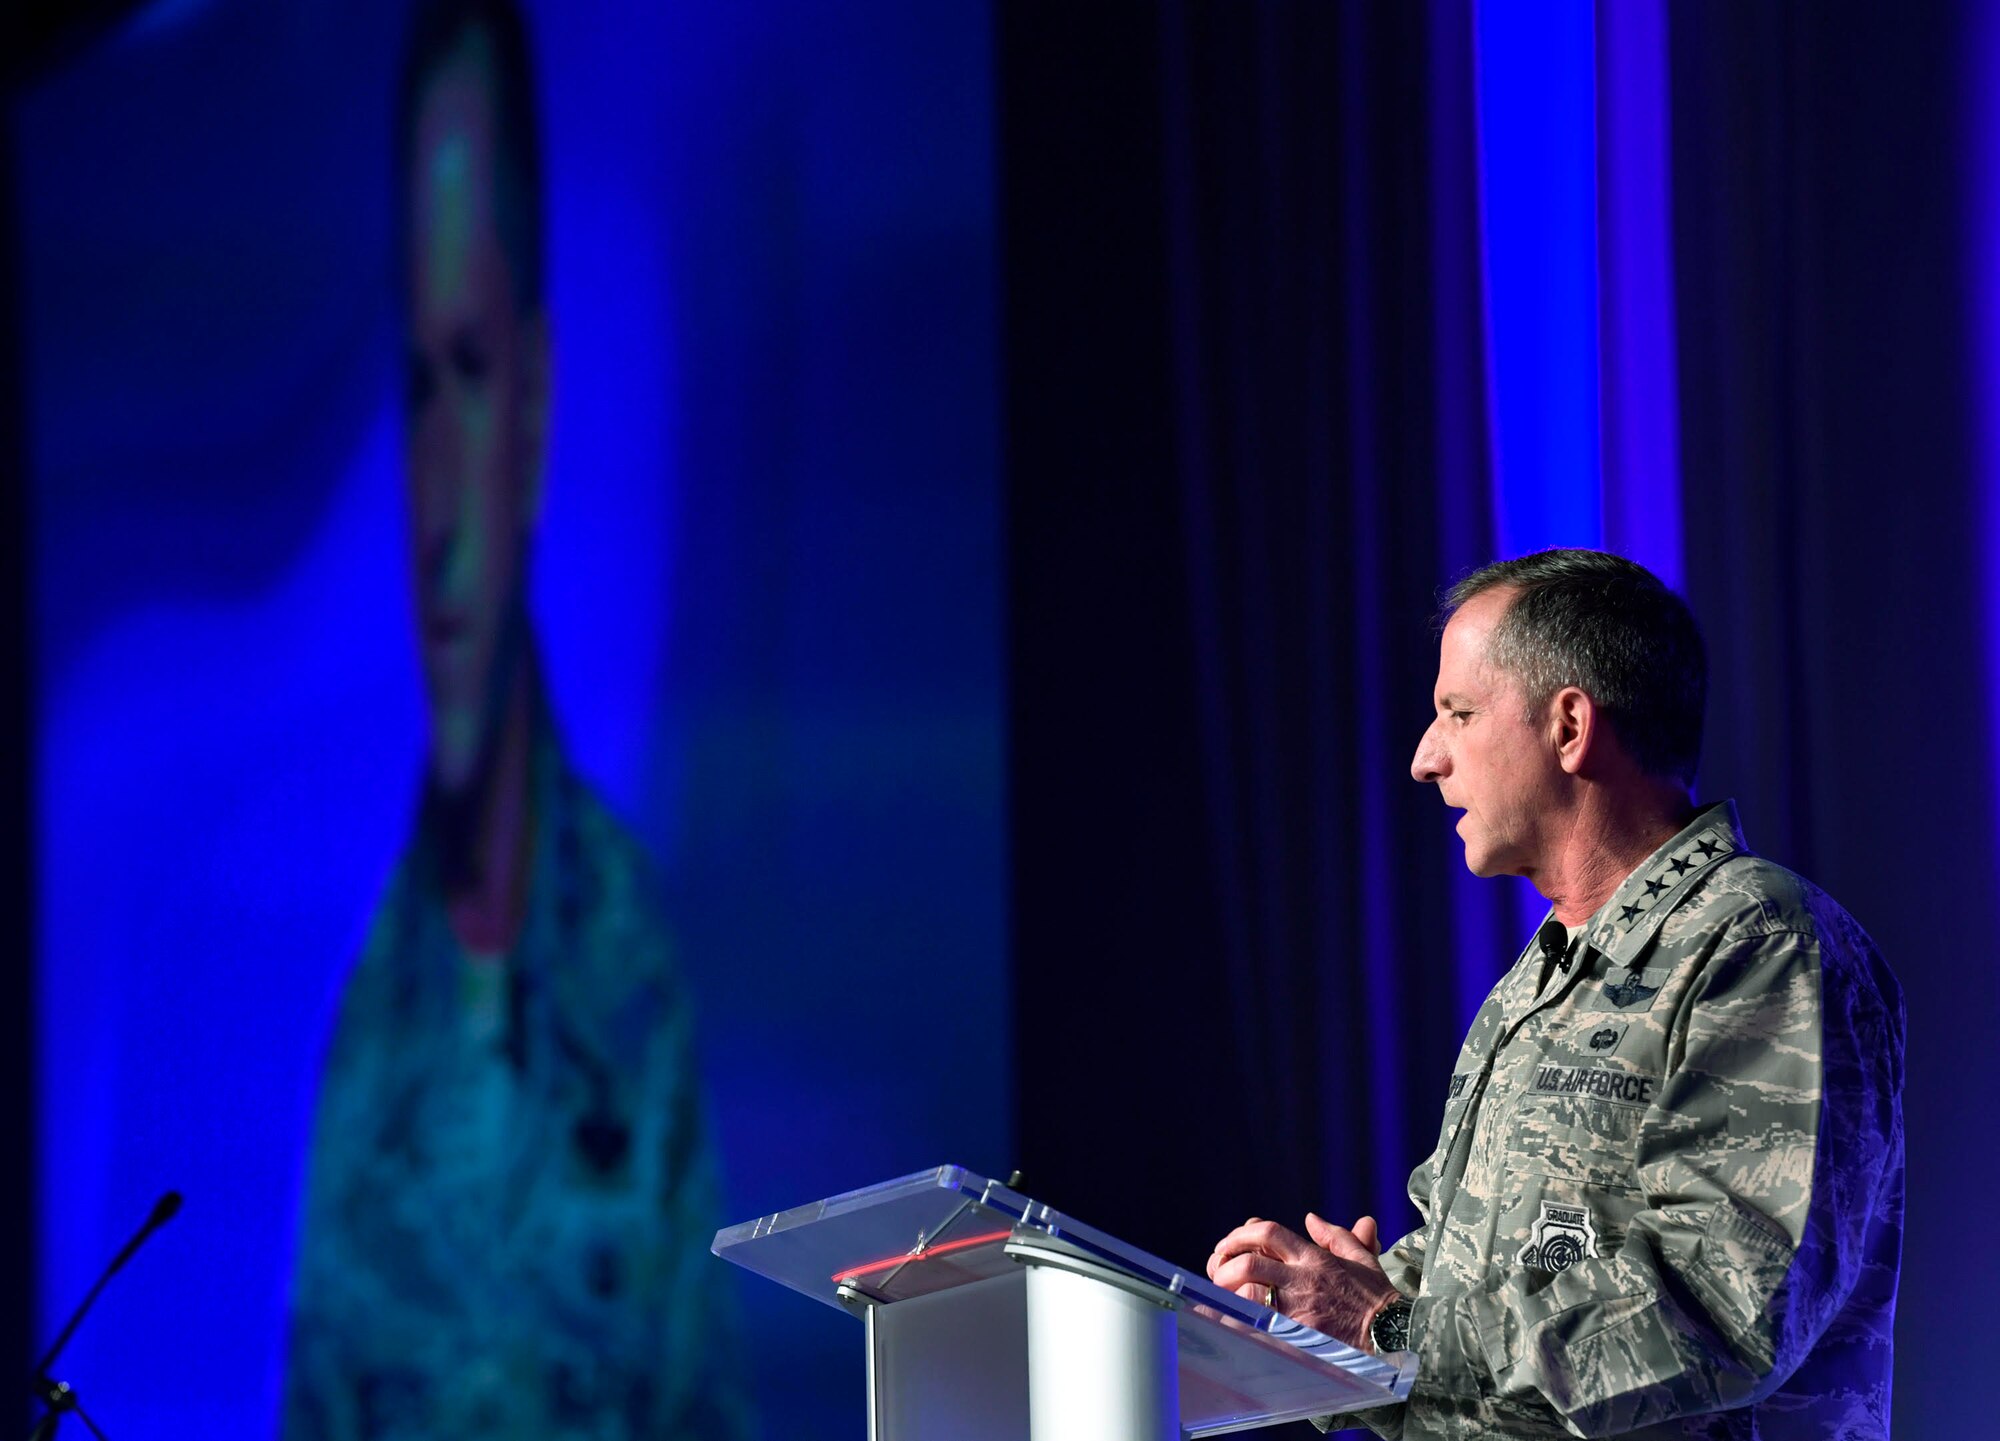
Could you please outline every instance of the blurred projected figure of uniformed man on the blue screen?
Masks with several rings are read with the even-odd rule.
[[[550,326],[506,0],[422,8],[396,136],[430,749],[320,1081],[284,1433],[736,1437],[688,1007],[528,616]]]

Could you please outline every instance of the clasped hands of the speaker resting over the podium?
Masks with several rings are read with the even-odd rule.
[[[1396,1287],[1376,1259],[1382,1239],[1374,1217],[1362,1217],[1350,1231],[1308,1215],[1306,1231],[1310,1241],[1276,1221],[1250,1217],[1216,1243],[1208,1279],[1350,1347],[1372,1351],[1368,1323],[1396,1299]]]

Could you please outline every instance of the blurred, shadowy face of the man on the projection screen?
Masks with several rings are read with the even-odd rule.
[[[488,42],[426,84],[408,156],[410,548],[432,785],[478,777],[526,648],[540,504],[546,330],[514,302],[494,196]]]

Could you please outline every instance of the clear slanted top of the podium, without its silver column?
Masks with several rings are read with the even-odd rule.
[[[1116,1273],[1174,1309],[1182,1427],[1194,1435],[1388,1405],[1410,1393],[1414,1357],[1356,1351],[1212,1285],[1202,1271],[1162,1261],[964,1167],[934,1167],[724,1227],[712,1249],[792,1291],[848,1307],[1016,1273],[1024,1247]]]

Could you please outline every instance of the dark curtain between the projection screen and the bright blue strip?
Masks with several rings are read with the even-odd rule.
[[[1490,544],[1470,10],[1000,22],[1020,1163],[1184,1263],[1398,1235],[1520,945],[1408,777]]]

